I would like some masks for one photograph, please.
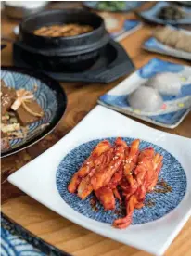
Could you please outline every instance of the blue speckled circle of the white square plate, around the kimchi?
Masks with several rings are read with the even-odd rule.
[[[116,138],[107,139],[113,143]],[[127,137],[122,139],[125,140],[128,145],[134,140],[133,138]],[[97,143],[101,140],[103,139],[93,140],[71,150],[57,168],[56,183],[61,198],[75,211],[98,222],[112,224],[115,219],[121,217],[124,213],[104,211],[104,208],[98,202],[96,203],[97,209],[95,211],[90,204],[91,198],[94,197],[93,195],[82,200],[78,198],[77,195],[70,194],[68,191],[68,185],[72,175],[78,171],[83,161],[87,159],[93,148],[96,147]],[[163,167],[159,173],[159,181],[165,181],[168,186],[171,186],[171,192],[162,193],[162,188],[159,183],[156,186],[156,192],[146,195],[145,206],[140,210],[134,211],[132,224],[146,224],[163,217],[178,206],[184,198],[186,191],[187,182],[185,171],[179,161],[162,147],[142,140],[140,149],[146,147],[154,147],[155,151],[163,156]],[[117,208],[118,207],[120,207],[120,205],[117,202]]]

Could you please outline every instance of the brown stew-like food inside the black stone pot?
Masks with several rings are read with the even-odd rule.
[[[62,25],[51,25],[41,27],[35,30],[33,33],[41,36],[74,36],[86,32],[93,31],[93,27],[89,25],[79,25],[79,24],[62,24]]]

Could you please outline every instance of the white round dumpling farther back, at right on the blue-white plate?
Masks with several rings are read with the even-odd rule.
[[[177,96],[181,92],[181,82],[177,74],[160,73],[149,79],[146,84],[159,90],[160,94]]]

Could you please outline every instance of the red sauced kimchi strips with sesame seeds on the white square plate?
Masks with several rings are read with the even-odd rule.
[[[146,193],[158,182],[162,156],[152,147],[140,151],[139,144],[136,139],[128,146],[121,138],[113,146],[107,140],[98,143],[68,186],[82,199],[94,192],[106,211],[116,208],[115,198],[124,203],[126,216],[114,221],[116,228],[132,223],[134,209],[144,206]]]

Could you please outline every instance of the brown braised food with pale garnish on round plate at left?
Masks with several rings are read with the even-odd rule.
[[[35,87],[34,87],[35,90]],[[1,81],[1,149],[10,147],[9,140],[25,138],[28,124],[44,116],[44,111],[32,91],[15,90]]]

